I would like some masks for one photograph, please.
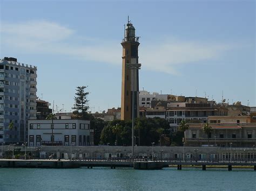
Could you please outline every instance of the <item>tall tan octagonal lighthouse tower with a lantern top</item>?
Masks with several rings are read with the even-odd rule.
[[[123,46],[121,119],[130,120],[132,115],[134,118],[139,116],[139,69],[141,64],[138,62],[139,37],[135,36],[135,28],[129,19],[121,44]]]

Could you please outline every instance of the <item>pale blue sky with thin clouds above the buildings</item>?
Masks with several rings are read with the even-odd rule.
[[[37,96],[70,112],[120,107],[127,16],[140,37],[139,89],[256,106],[255,1],[4,1],[0,58],[37,66]],[[57,108],[56,108],[57,105]]]

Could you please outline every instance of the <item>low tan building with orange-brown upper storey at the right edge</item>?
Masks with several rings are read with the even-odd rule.
[[[255,147],[256,123],[250,123],[250,116],[209,116],[208,121],[209,135],[203,131],[204,123],[188,124],[186,146]]]

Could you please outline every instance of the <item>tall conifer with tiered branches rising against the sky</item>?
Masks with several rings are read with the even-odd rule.
[[[87,119],[87,110],[89,109],[88,102],[87,100],[87,95],[89,92],[85,91],[85,88],[88,86],[78,86],[76,87],[76,96],[74,97],[75,104],[73,105],[72,109],[75,109],[75,111],[78,112],[78,115],[81,118]]]

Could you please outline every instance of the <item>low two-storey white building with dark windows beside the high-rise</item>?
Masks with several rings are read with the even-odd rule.
[[[80,119],[29,120],[28,145],[93,145],[90,121]]]

